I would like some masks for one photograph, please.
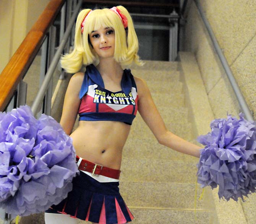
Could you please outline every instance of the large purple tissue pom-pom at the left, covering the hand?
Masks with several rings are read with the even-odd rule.
[[[72,139],[52,117],[28,106],[0,113],[0,206],[27,216],[60,203],[78,172]]]

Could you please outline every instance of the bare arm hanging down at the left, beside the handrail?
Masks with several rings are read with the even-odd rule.
[[[83,83],[83,77],[84,74],[82,72],[73,75],[66,90],[60,125],[68,135],[71,134],[76,121],[80,105],[79,91]]]

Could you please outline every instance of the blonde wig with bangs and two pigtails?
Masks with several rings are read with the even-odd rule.
[[[89,34],[100,27],[112,27],[115,30],[115,53],[114,59],[127,67],[132,62],[138,65],[143,63],[138,56],[138,38],[134,30],[133,21],[130,14],[123,6],[117,6],[120,12],[128,20],[128,30],[126,32],[120,17],[112,10],[104,8],[93,10],[86,18],[83,34],[81,32],[81,23],[86,15],[91,11],[84,9],[78,14],[75,29],[74,50],[70,54],[65,54],[61,58],[61,65],[69,73],[78,72],[83,65],[99,63],[99,58],[89,43]]]

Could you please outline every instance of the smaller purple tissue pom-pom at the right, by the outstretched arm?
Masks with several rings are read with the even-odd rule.
[[[211,133],[198,137],[205,145],[198,163],[201,187],[219,186],[219,198],[248,196],[256,187],[256,123],[228,115],[211,122]]]

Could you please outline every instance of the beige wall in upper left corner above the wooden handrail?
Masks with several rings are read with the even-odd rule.
[[[0,73],[50,0],[0,0]]]

